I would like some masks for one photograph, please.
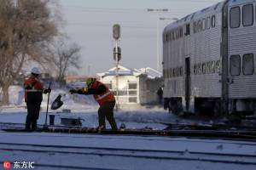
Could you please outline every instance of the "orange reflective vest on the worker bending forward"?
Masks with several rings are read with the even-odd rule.
[[[98,86],[103,85],[106,88],[106,91],[102,94],[93,94],[94,99],[98,102],[99,105],[102,105],[105,102],[115,101],[112,92],[109,91],[108,87],[102,82],[95,81],[92,83],[91,88],[97,88]]]

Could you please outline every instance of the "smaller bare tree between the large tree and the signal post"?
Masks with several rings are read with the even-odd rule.
[[[63,82],[69,69],[80,68],[80,47],[76,43],[66,45],[64,42],[59,42],[56,50],[55,67],[57,68],[57,81]]]

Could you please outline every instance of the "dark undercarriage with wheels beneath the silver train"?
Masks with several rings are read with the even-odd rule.
[[[221,98],[198,98],[190,99],[189,107],[183,97],[165,98],[164,108],[169,112],[180,115],[190,113],[196,116],[245,116],[256,117],[256,99],[229,99],[229,113],[225,114],[222,109],[224,102]]]

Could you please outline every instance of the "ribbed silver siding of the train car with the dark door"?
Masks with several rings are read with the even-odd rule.
[[[168,42],[168,48],[164,46],[163,58],[165,61],[166,69],[180,66],[180,62],[182,62],[184,74],[185,58],[190,57],[192,97],[193,95],[197,97],[221,97],[221,76],[218,73],[194,76],[194,64],[211,60],[217,61],[220,59],[223,5],[224,3],[218,3],[218,8],[215,8],[216,6],[214,5],[211,8],[208,8],[207,11],[196,12],[194,20],[199,20],[201,17],[207,18],[207,16],[212,16],[213,14],[216,15],[218,24],[215,28],[209,31],[204,31],[203,33],[197,33],[197,35],[193,35],[194,20],[191,20],[190,23],[189,21],[177,22],[166,26],[165,28],[165,31],[171,31],[171,29],[175,29],[177,26],[183,25],[183,32],[185,32],[185,25],[190,24],[190,39],[183,35],[183,38],[179,41]],[[184,82],[184,76],[166,78],[164,97],[184,97]]]

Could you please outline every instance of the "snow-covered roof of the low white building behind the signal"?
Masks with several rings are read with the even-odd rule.
[[[108,71],[97,73],[99,77],[107,77],[107,76],[115,76],[116,75],[116,67],[112,67],[108,69]],[[154,69],[150,67],[141,68],[141,69],[131,69],[128,67],[125,67],[123,65],[119,65],[118,67],[118,75],[119,76],[147,76],[148,78],[156,78],[161,77],[160,71],[155,71]]]

